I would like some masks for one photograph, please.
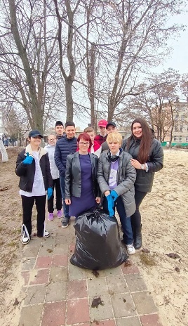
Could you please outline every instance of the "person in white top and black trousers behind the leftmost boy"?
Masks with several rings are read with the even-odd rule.
[[[48,145],[45,146],[46,151],[48,152],[49,160],[50,160],[50,167],[51,167],[51,175],[53,178],[53,189],[55,187],[56,193],[56,209],[57,209],[57,216],[58,219],[62,217],[62,196],[61,196],[61,188],[60,188],[60,174],[59,170],[55,165],[54,160],[54,152],[55,152],[55,144],[56,144],[56,136],[51,133],[48,136]],[[53,221],[53,195],[48,200],[48,221]]]

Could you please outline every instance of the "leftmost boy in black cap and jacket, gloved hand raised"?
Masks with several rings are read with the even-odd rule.
[[[32,208],[36,204],[37,237],[49,237],[45,229],[46,190],[48,199],[53,194],[48,153],[41,148],[43,136],[38,130],[29,133],[29,145],[22,150],[16,161],[15,173],[20,176],[20,195],[22,197],[22,244],[31,240]]]

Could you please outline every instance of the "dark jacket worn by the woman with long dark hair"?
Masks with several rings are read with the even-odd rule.
[[[137,159],[138,151],[140,148],[140,140],[132,138],[130,140],[129,149],[127,149],[127,141],[123,141],[122,148],[125,152],[129,152],[133,156],[133,159]],[[156,139],[152,140],[152,146],[147,159],[147,165],[149,171],[137,169],[137,177],[135,181],[135,190],[142,193],[150,193],[152,191],[152,185],[154,181],[154,174],[163,168],[163,148],[161,143]]]

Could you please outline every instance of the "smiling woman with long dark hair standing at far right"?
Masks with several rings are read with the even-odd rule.
[[[152,191],[155,172],[163,168],[163,148],[157,141],[145,119],[137,118],[131,124],[132,135],[123,141],[123,150],[132,155],[130,163],[137,171],[135,181],[136,211],[131,216],[134,247],[142,246],[140,204]]]

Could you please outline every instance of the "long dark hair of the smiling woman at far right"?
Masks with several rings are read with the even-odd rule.
[[[142,119],[142,118],[135,119],[131,124],[132,135],[128,138],[127,150],[130,147],[130,141],[132,139],[135,139],[135,137],[133,136],[133,125],[135,123],[141,124],[141,126],[142,126],[142,138],[140,141],[140,148],[139,148],[139,152],[137,155],[137,160],[140,163],[145,163],[148,160],[149,150],[152,145],[152,138],[153,138],[152,131],[151,131],[149,125],[147,124],[147,122],[145,121],[145,119]]]

